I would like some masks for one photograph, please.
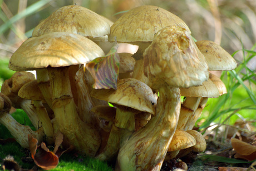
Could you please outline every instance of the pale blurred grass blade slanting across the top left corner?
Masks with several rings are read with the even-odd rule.
[[[41,0],[36,3],[33,3],[31,6],[27,7],[26,10],[22,11],[21,13],[16,14],[12,18],[10,18],[2,26],[0,26],[0,35],[3,34],[8,28],[10,28],[13,23],[17,22],[21,18],[27,17],[27,16],[37,12],[40,8],[42,8],[49,2],[51,2],[51,0]]]

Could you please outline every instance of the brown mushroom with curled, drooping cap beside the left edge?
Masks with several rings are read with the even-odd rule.
[[[33,126],[38,129],[41,125],[36,114],[36,108],[31,105],[31,100],[23,99],[18,96],[19,89],[26,83],[35,80],[34,74],[30,72],[16,72],[9,79],[4,81],[1,92],[11,100],[14,108],[21,108],[28,115]]]

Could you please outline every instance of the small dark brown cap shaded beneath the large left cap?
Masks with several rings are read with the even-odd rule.
[[[45,100],[40,88],[37,86],[37,81],[33,80],[24,84],[21,89],[19,89],[18,96],[23,99],[29,100]]]

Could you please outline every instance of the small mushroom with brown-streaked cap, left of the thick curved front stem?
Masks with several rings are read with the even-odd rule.
[[[101,160],[115,157],[127,138],[135,131],[135,114],[155,114],[156,99],[145,83],[134,78],[117,81],[117,89],[94,89],[91,96],[106,100],[116,107],[114,124],[104,150],[97,156]]]

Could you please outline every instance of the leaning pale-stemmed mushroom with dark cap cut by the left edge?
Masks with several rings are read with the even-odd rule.
[[[38,142],[43,140],[43,129],[39,128],[36,131],[33,131],[29,126],[22,125],[18,123],[8,112],[12,107],[11,100],[0,93],[0,123],[3,124],[12,136],[17,140],[17,142],[23,148],[29,148],[28,144],[28,134],[33,135]]]

